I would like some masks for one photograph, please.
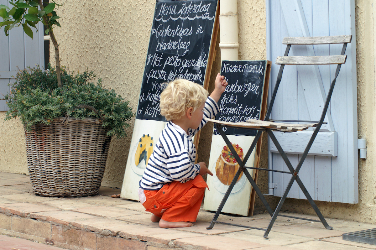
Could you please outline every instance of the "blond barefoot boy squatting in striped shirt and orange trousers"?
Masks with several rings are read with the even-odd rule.
[[[205,124],[204,117],[218,113],[217,102],[227,86],[224,76],[217,74],[214,91],[184,79],[170,82],[161,94],[161,114],[165,129],[159,136],[139,182],[138,195],[150,218],[159,227],[190,227],[196,221],[205,188],[202,176],[213,175],[205,162],[194,164],[196,147],[192,136]]]

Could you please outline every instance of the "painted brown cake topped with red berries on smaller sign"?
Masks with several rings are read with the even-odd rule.
[[[235,151],[239,155],[239,158],[243,161],[243,149],[239,147],[238,144],[233,143],[232,147],[235,148]],[[230,185],[238,169],[239,163],[232,155],[230,149],[227,146],[224,146],[221,155],[219,156],[217,163],[215,164],[215,175],[224,185]],[[240,180],[240,177],[242,175],[243,172],[240,173],[237,182]]]

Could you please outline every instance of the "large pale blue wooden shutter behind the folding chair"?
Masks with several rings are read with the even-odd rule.
[[[358,203],[358,150],[356,107],[355,3],[353,0],[267,0],[268,60],[272,61],[271,89],[274,88],[283,56],[285,36],[353,35],[347,46],[347,61],[341,67],[326,115],[327,124],[320,130],[309,151],[299,177],[314,200]],[[338,55],[342,45],[291,47],[289,55]],[[316,120],[337,65],[287,65],[271,118]],[[291,163],[297,164],[312,131],[276,133]],[[288,171],[274,144],[269,140],[269,164],[275,170]],[[290,176],[273,173],[274,195],[281,196]],[[288,195],[305,195],[296,183]]]

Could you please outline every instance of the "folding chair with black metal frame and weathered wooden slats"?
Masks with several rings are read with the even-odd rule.
[[[297,219],[302,219],[302,220],[309,220],[309,221],[317,221],[323,223],[324,227],[326,229],[332,229],[331,226],[329,226],[324,219],[323,215],[321,214],[320,210],[318,209],[317,205],[313,201],[311,195],[309,195],[307,189],[303,185],[303,182],[300,180],[298,173],[300,168],[303,165],[304,160],[306,159],[306,156],[308,155],[309,149],[312,146],[312,143],[314,142],[317,133],[320,130],[321,125],[324,123],[324,118],[326,115],[326,112],[329,107],[329,102],[331,100],[331,96],[333,93],[334,85],[338,76],[338,73],[340,72],[341,64],[344,64],[346,62],[346,46],[347,43],[351,42],[352,36],[351,35],[346,35],[346,36],[317,36],[317,37],[285,37],[283,39],[283,44],[287,44],[285,55],[284,56],[279,56],[276,59],[276,64],[280,64],[279,68],[279,73],[277,76],[276,80],[276,85],[273,90],[273,94],[271,96],[267,114],[265,116],[264,121],[262,120],[247,120],[246,122],[240,122],[240,123],[230,123],[230,122],[224,122],[224,121],[218,121],[218,120],[212,120],[212,119],[207,119],[208,121],[212,121],[215,126],[217,126],[218,131],[220,132],[221,136],[223,137],[224,141],[226,142],[227,146],[230,148],[232,154],[234,155],[235,159],[239,163],[239,170],[235,174],[235,177],[233,178],[229,188],[227,189],[226,194],[223,197],[222,202],[220,203],[217,211],[215,212],[215,215],[211,221],[211,224],[207,229],[212,229],[214,227],[215,223],[221,223],[221,224],[229,224],[233,226],[241,226],[241,227],[246,227],[250,229],[259,229],[259,230],[265,230],[264,233],[264,238],[268,239],[268,234],[271,230],[271,227],[274,224],[274,221],[276,220],[277,216],[284,216],[284,217],[290,217],[290,218],[297,218]],[[335,56],[288,56],[288,53],[290,51],[291,45],[316,45],[316,44],[343,44],[343,48],[341,51],[341,55],[335,55]],[[323,108],[323,111],[321,113],[320,120],[317,121],[303,121],[304,123],[296,123],[296,124],[291,124],[291,123],[275,123],[272,121],[268,121],[270,114],[271,114],[271,109],[273,108],[273,103],[274,99],[276,98],[277,90],[279,87],[279,84],[282,79],[282,73],[284,70],[285,65],[324,65],[324,64],[337,64],[337,69],[335,71],[335,77],[332,80],[332,83],[330,85],[329,91],[327,93],[325,105]],[[302,122],[302,121],[285,121],[285,122]],[[230,143],[229,139],[227,138],[226,134],[223,131],[224,127],[235,127],[235,128],[241,128],[241,129],[253,129],[253,130],[258,130],[249,150],[247,151],[246,155],[244,155],[244,160],[241,161],[240,157],[237,155],[235,149],[232,147],[232,144]],[[280,146],[279,142],[277,141],[276,137],[273,134],[273,131],[282,131],[282,132],[295,132],[295,131],[300,131],[300,130],[305,130],[308,129],[309,127],[315,127],[314,132],[312,133],[311,139],[309,139],[309,142],[303,152],[303,155],[300,158],[299,163],[297,164],[296,168],[294,168],[291,165],[291,162],[289,161],[286,153]],[[254,167],[245,167],[245,164],[251,155],[253,148],[255,148],[258,139],[260,138],[262,132],[268,133],[270,136],[270,139],[274,142],[276,145],[276,148],[280,155],[282,156],[282,159],[284,159],[284,162],[286,163],[288,169],[290,171],[279,171],[279,170],[271,170],[271,169],[265,169],[265,168],[254,168]],[[291,179],[290,182],[288,182],[288,185],[285,188],[284,194],[280,198],[280,201],[277,205],[277,208],[275,211],[273,211],[270,208],[270,205],[266,201],[264,195],[258,188],[257,184],[253,180],[252,176],[249,174],[249,172],[246,170],[246,168],[249,169],[257,169],[257,170],[265,170],[265,171],[274,171],[274,172],[279,172],[279,173],[285,173],[285,174],[291,174]],[[231,223],[223,223],[220,221],[217,221],[219,214],[221,213],[224,204],[226,203],[227,198],[230,195],[230,192],[232,191],[236,180],[240,176],[241,172],[245,174],[249,182],[251,183],[253,189],[255,190],[256,194],[258,197],[261,199],[261,202],[264,204],[265,208],[267,209],[268,213],[271,216],[271,220],[268,224],[268,227],[266,229],[264,228],[257,228],[257,227],[250,227],[250,226],[244,226],[244,225],[237,225],[237,224],[231,224]],[[318,220],[311,220],[311,219],[306,219],[306,218],[300,218],[300,217],[293,217],[293,216],[287,216],[287,215],[279,215],[280,209],[282,208],[283,203],[286,200],[286,197],[288,195],[288,192],[291,189],[291,186],[293,185],[294,181],[297,182],[299,185],[300,189],[306,196],[308,202],[311,204],[312,208],[316,212]]]

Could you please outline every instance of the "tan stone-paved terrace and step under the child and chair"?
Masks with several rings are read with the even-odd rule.
[[[150,221],[139,202],[113,198],[120,189],[101,187],[99,195],[80,198],[37,196],[28,176],[0,173],[0,250],[369,250],[376,245],[342,239],[343,233],[373,229],[357,221],[326,218],[321,223],[278,217],[264,239],[264,231],[215,224],[206,229],[214,213],[201,210],[194,226],[161,229]],[[282,213],[303,218],[316,216]],[[220,215],[218,221],[266,228],[270,215]]]

